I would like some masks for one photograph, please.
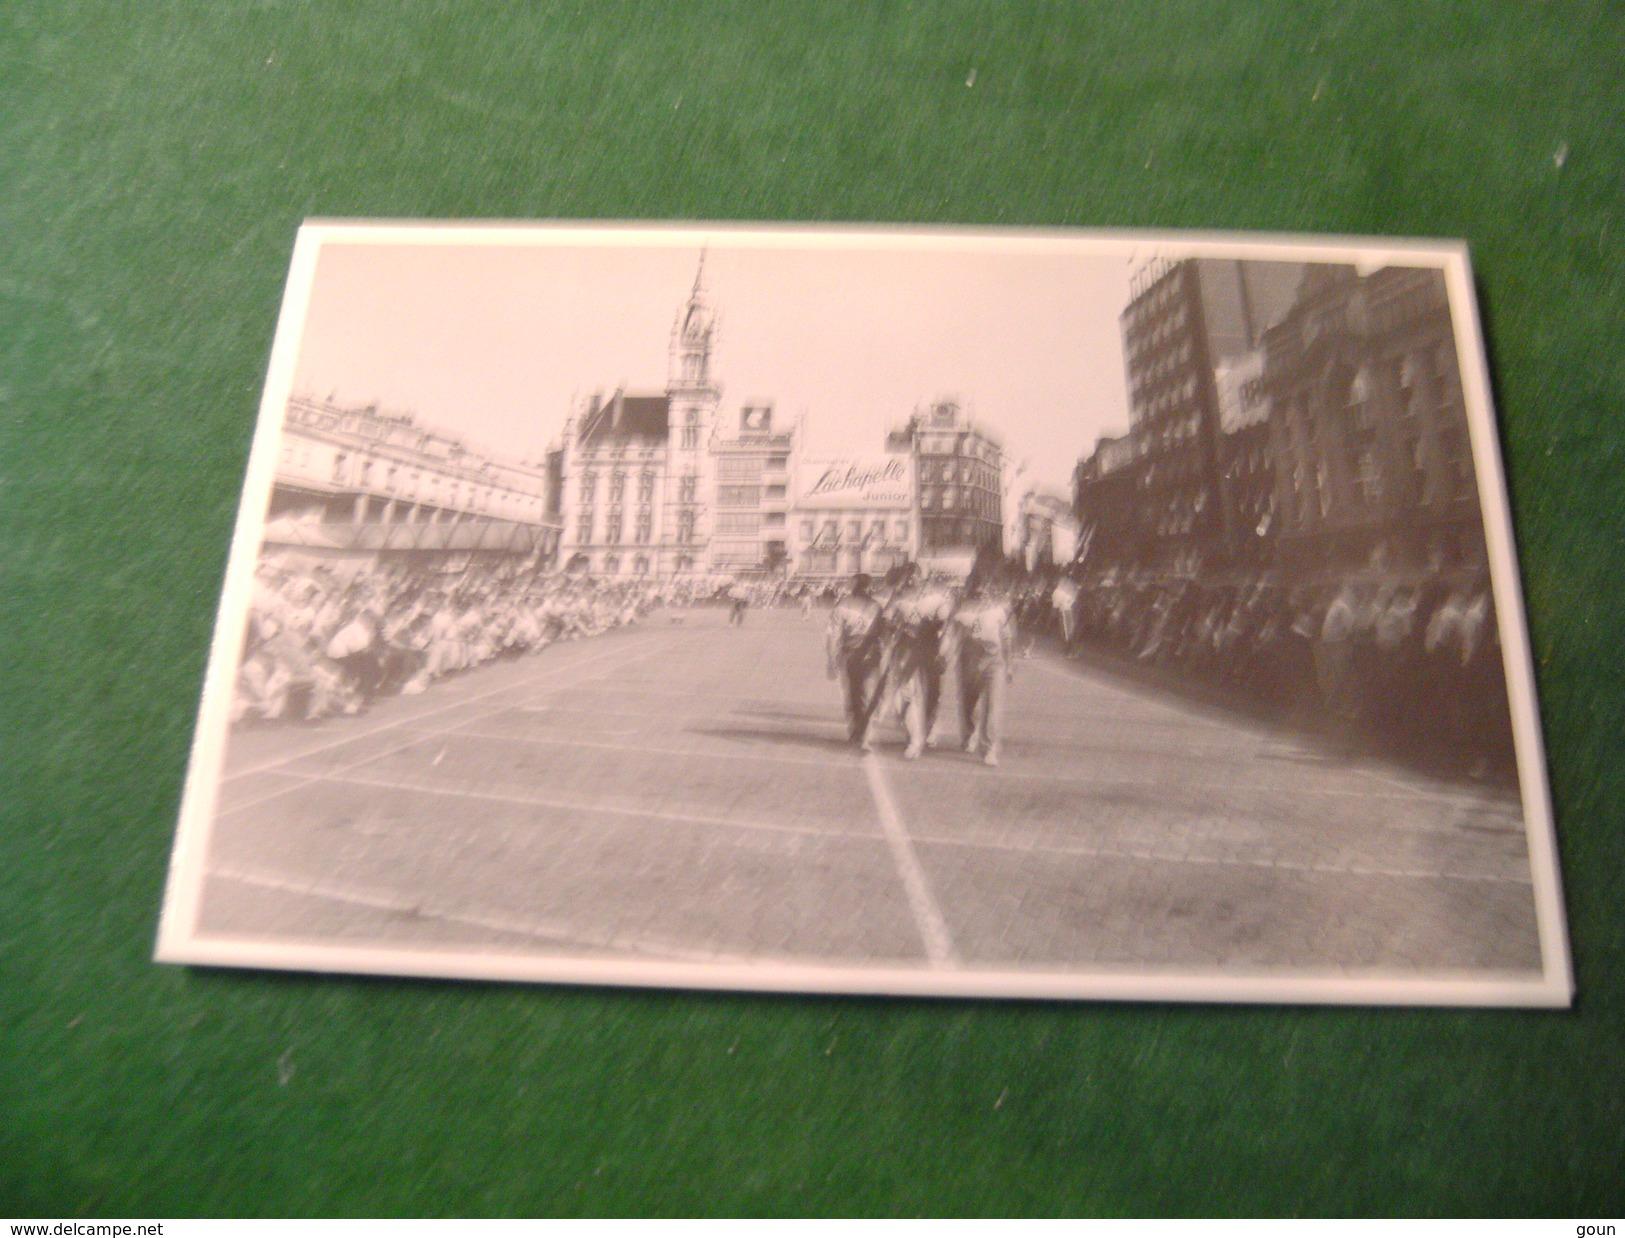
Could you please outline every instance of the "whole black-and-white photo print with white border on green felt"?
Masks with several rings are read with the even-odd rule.
[[[1450,242],[310,223],[158,939],[1565,1006]]]

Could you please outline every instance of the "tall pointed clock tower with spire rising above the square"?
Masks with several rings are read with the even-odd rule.
[[[710,439],[717,424],[722,388],[712,375],[717,318],[705,296],[705,253],[694,273],[694,289],[671,327],[671,361],[666,374],[670,401],[666,445],[666,523],[674,535],[679,574],[708,570],[712,535],[710,499],[717,492]]]

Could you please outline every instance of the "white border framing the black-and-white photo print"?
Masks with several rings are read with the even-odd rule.
[[[1386,970],[1092,968],[933,970],[762,963],[668,963],[603,959],[536,959],[466,949],[356,947],[315,942],[200,937],[195,931],[203,856],[214,819],[229,710],[254,588],[255,561],[276,474],[278,440],[320,250],[344,245],[600,245],[717,249],[933,250],[1168,258],[1222,257],[1274,262],[1344,262],[1443,270],[1456,331],[1458,369],[1466,400],[1474,465],[1488,544],[1490,578],[1500,622],[1508,703],[1523,794],[1540,975],[1436,972],[1396,976]],[[294,240],[288,284],[260,400],[247,478],[237,509],[231,557],[214,619],[197,731],[187,764],[179,825],[169,864],[154,959],[351,975],[448,980],[622,985],[757,993],[895,994],[933,998],[1043,998],[1095,1001],[1360,1004],[1360,1006],[1519,1006],[1566,1007],[1573,1001],[1573,963],[1563,915],[1557,835],[1536,702],[1534,668],[1513,543],[1506,479],[1502,468],[1490,375],[1477,299],[1464,242],[1259,236],[1181,231],[977,229],[869,224],[752,223],[593,223],[593,221],[344,221],[309,219]]]

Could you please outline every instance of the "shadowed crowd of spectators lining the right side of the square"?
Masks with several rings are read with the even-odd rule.
[[[1076,656],[1105,648],[1339,739],[1477,777],[1513,770],[1487,575],[1284,583],[1105,572],[1034,580],[1019,606]]]

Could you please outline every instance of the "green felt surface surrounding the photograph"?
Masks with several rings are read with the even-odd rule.
[[[1622,65],[1578,2],[6,3],[0,1214],[1617,1219]],[[1575,1011],[151,965],[307,214],[1466,237]]]

